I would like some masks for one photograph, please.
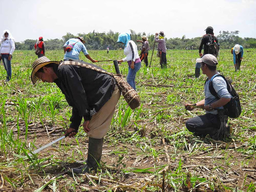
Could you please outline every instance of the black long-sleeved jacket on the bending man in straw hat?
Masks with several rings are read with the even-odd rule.
[[[56,65],[53,70],[58,76],[54,83],[73,107],[70,127],[78,130],[83,117],[90,120],[110,99],[116,81],[110,75],[74,65]]]

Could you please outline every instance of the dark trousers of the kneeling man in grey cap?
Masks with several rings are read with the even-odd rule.
[[[225,117],[227,123],[228,118]],[[190,132],[196,135],[210,135],[214,136],[221,126],[219,115],[206,113],[204,115],[196,116],[186,121],[186,127]]]

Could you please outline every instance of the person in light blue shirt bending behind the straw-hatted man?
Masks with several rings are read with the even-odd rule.
[[[92,59],[89,55],[89,53],[86,50],[86,47],[84,45],[85,41],[83,37],[77,37],[69,39],[63,46],[64,49],[64,61],[65,60],[79,60],[79,54],[82,51],[87,59],[89,59],[91,62],[95,63],[96,61]],[[71,45],[73,48],[68,52],[67,46]]]

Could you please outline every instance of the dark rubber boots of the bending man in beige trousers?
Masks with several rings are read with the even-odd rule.
[[[89,145],[88,145],[88,156],[87,156],[87,165],[80,169],[73,169],[74,173],[90,173],[91,170],[97,169],[98,164],[100,164],[101,156],[102,156],[102,146],[103,146],[103,138],[95,139],[89,137]]]

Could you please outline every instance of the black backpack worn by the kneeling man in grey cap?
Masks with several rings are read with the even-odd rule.
[[[209,91],[211,92],[211,94],[213,96],[215,96],[217,99],[220,99],[216,93],[216,91],[214,90],[213,88],[213,85],[212,85],[212,80],[217,77],[217,76],[221,76],[223,77],[223,79],[226,81],[226,84],[227,84],[227,89],[228,89],[228,92],[230,93],[231,95],[231,99],[230,101],[225,104],[223,107],[224,109],[226,109],[227,111],[227,115],[231,118],[237,118],[239,117],[239,115],[241,114],[241,104],[240,104],[240,99],[239,99],[239,96],[238,94],[236,93],[236,90],[233,88],[233,86],[231,85],[231,82],[232,80],[227,80],[223,75],[220,75],[220,74],[216,74],[214,75],[210,82],[209,82]],[[207,78],[208,80],[208,78]],[[206,80],[206,81],[207,81]],[[206,83],[205,81],[205,83]]]

